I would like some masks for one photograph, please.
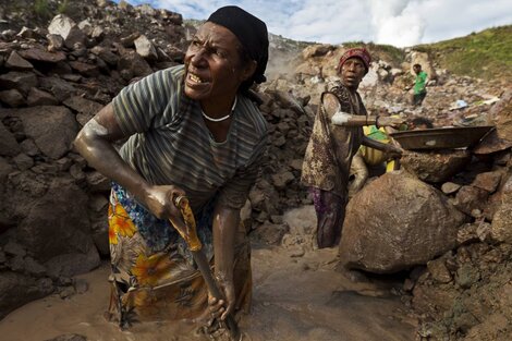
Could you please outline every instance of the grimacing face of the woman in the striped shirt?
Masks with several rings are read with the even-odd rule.
[[[254,73],[244,63],[241,44],[228,28],[206,22],[185,54],[185,94],[195,100],[232,100],[240,84]]]

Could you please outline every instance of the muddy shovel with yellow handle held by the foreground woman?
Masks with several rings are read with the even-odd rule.
[[[196,263],[197,268],[199,269],[199,272],[206,282],[210,295],[217,300],[223,300],[223,296],[219,288],[217,287],[217,283],[210,271],[210,266],[208,260],[206,259],[206,255],[202,251],[203,245],[200,244],[200,241],[197,236],[196,222],[194,219],[194,214],[192,212],[191,206],[188,204],[188,199],[185,196],[180,195],[173,198],[173,203],[180,209],[183,216],[183,220],[185,221],[185,227],[184,229],[180,229],[180,224],[174,223],[171,219],[172,226],[174,227],[174,229],[176,229],[176,231],[186,242],[186,245],[188,246],[188,249],[192,253],[192,257],[194,258],[194,261]],[[234,320],[233,316],[231,314],[228,315],[224,321],[225,328],[228,329],[231,336],[231,340],[242,340],[239,326],[236,325],[236,321]]]

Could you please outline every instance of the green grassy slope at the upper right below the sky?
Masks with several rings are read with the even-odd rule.
[[[414,49],[428,52],[440,68],[454,74],[486,81],[512,78],[512,25]]]

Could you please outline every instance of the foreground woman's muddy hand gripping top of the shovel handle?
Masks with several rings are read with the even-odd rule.
[[[159,219],[181,218],[180,209],[173,199],[185,195],[185,191],[174,185],[151,185],[144,194],[146,207]]]

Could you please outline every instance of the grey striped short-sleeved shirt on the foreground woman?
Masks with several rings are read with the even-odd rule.
[[[112,100],[119,126],[131,135],[121,157],[149,183],[184,190],[194,210],[217,194],[241,208],[263,162],[267,123],[239,94],[228,137],[216,142],[199,102],[184,95],[183,75],[183,65],[155,72]]]

